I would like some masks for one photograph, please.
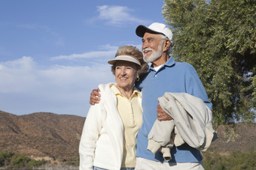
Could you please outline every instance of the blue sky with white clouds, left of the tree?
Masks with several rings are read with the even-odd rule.
[[[86,117],[90,92],[114,82],[118,46],[163,22],[160,0],[1,0],[0,110]]]

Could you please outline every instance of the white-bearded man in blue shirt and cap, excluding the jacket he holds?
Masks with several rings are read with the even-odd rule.
[[[136,83],[142,91],[143,109],[143,123],[137,136],[136,169],[203,169],[200,151],[186,143],[172,148],[172,160],[169,162],[163,160],[160,151],[153,154],[147,150],[148,133],[157,116],[162,117],[158,118],[160,121],[172,119],[160,108],[158,97],[165,92],[187,93],[202,99],[210,109],[212,103],[194,67],[185,62],[175,62],[169,55],[173,45],[172,31],[166,25],[158,22],[148,27],[139,25],[136,34],[142,37],[144,60],[151,62],[148,73]],[[97,103],[95,98],[92,99],[93,95],[90,103]]]

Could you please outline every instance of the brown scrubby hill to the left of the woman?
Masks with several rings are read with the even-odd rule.
[[[0,151],[35,159],[78,161],[85,118],[37,112],[13,115],[0,111]]]

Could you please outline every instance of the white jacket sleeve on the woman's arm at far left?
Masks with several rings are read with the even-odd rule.
[[[101,103],[90,107],[79,145],[80,170],[93,169],[94,151],[105,115],[106,112]]]

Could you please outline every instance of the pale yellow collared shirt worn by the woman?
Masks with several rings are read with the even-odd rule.
[[[120,91],[111,86],[117,97],[117,110],[123,121],[123,161],[121,167],[134,168],[136,166],[137,134],[142,127],[142,106],[139,102],[140,94],[133,89],[130,99],[123,97]]]

